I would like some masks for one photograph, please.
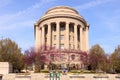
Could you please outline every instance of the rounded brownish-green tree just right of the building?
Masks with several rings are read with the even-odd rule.
[[[100,69],[105,70],[107,57],[104,50],[98,45],[94,45],[89,52],[89,65],[92,70]]]

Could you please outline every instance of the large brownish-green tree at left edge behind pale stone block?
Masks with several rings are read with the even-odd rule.
[[[0,61],[12,63],[13,70],[20,71],[24,68],[21,49],[9,38],[0,40]]]

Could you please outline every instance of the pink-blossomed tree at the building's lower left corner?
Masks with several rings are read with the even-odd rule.
[[[25,51],[24,62],[27,66],[34,64],[35,72],[40,72],[44,64],[49,64],[51,62],[49,58],[50,54],[53,54],[53,52],[48,46],[40,46],[38,51],[35,51],[34,48],[30,48]]]

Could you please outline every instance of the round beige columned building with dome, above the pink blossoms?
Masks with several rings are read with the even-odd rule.
[[[34,24],[35,47],[88,51],[88,29],[88,23],[75,9],[51,8]]]

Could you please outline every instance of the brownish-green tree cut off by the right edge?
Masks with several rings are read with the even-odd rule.
[[[111,69],[120,73],[120,46],[110,56]]]

